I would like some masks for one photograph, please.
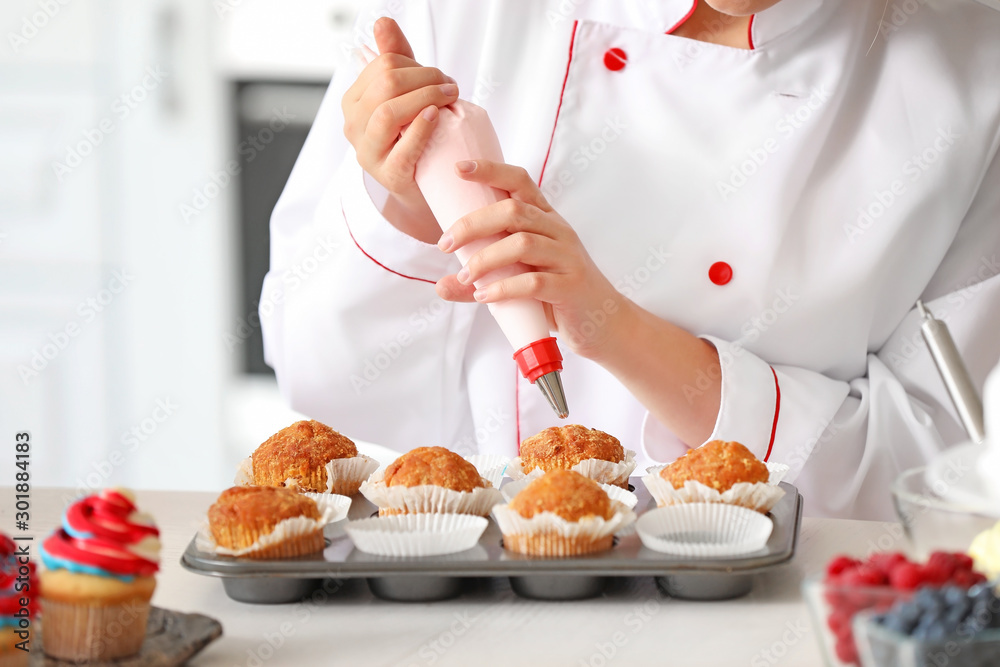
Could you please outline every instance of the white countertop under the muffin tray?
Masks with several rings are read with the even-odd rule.
[[[5,498],[12,489],[0,491]],[[32,491],[30,534],[36,542],[59,521],[71,492]],[[153,604],[208,614],[223,635],[189,664],[262,665],[677,665],[816,666],[817,638],[799,592],[807,574],[837,553],[866,555],[894,524],[804,519],[794,560],[755,577],[746,597],[724,602],[668,598],[652,578],[612,583],[603,597],[577,602],[521,599],[506,580],[454,600],[386,602],[353,581],[326,601],[250,605],[229,599],[219,579],[184,570],[187,548],[215,493],[140,491],[139,507],[156,517],[162,571]],[[12,508],[0,530],[13,529]],[[900,550],[906,548],[900,543]],[[33,547],[37,558],[37,546]],[[610,657],[602,655],[603,652]],[[264,658],[263,660],[261,658]]]

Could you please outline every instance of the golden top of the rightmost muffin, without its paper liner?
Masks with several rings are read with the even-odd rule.
[[[660,476],[675,489],[693,480],[723,493],[740,482],[766,484],[770,473],[767,466],[740,443],[713,440],[663,468]]]

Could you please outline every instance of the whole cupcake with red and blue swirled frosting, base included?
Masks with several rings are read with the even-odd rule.
[[[159,530],[124,489],[74,502],[42,542],[44,650],[68,661],[139,652],[159,569]]]

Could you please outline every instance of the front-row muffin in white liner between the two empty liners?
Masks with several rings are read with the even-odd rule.
[[[612,547],[635,514],[600,485],[573,470],[553,470],[531,482],[493,516],[504,548],[528,556],[580,556]]]

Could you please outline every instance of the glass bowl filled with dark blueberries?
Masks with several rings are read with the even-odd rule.
[[[885,612],[854,617],[862,667],[1000,665],[1000,597],[995,585],[921,588]]]

